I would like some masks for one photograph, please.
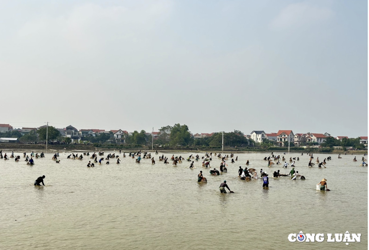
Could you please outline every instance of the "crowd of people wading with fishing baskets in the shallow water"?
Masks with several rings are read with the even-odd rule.
[[[135,163],[140,163],[142,159],[151,159],[151,163],[155,164],[155,160],[154,160],[154,156],[151,156],[151,153],[147,152],[146,150],[142,153],[141,150],[138,150],[137,152],[129,152],[128,156],[126,156],[125,152],[121,152],[121,150],[119,150],[119,154],[122,156],[122,158],[124,157],[130,157],[132,159],[135,159]],[[158,151],[156,150],[155,155],[158,155]],[[286,153],[283,153],[286,154]],[[86,153],[80,153],[80,155],[78,155],[78,153],[74,154],[71,153],[69,154],[66,159],[75,159],[75,160],[83,160],[84,156],[85,157],[89,157],[89,162],[87,163],[87,167],[94,167],[95,163],[98,164],[103,164],[103,161],[105,162],[105,164],[110,164],[110,160],[114,159],[114,161],[116,161],[116,164],[120,164],[120,155],[115,155],[115,153],[108,153],[106,156],[104,155],[104,152],[99,151],[98,153],[94,152],[92,153],[92,155],[90,156],[89,152]],[[366,155],[366,154],[365,154]],[[365,156],[364,155],[364,156]],[[301,153],[301,156],[303,156],[303,153]],[[318,168],[322,168],[322,166],[324,168],[326,168],[326,164],[328,161],[332,160],[331,156],[325,157],[323,161],[319,160],[319,157],[316,158],[315,163],[313,163],[312,161],[314,160],[314,156],[312,153],[309,153],[308,156],[310,156],[309,162],[308,162],[308,167],[314,167],[315,163],[318,164]],[[25,158],[25,162],[27,162],[27,165],[34,165],[34,159],[38,159],[38,158],[44,158],[45,154],[44,152],[41,152],[40,154],[38,153],[34,153],[33,151],[30,153],[30,157],[28,156],[28,154],[26,152],[23,153],[23,158]],[[58,159],[59,157],[59,152],[55,153],[52,156],[52,160],[55,160],[56,163],[60,163],[60,159]],[[219,166],[219,170],[217,170],[216,168],[211,169],[210,167],[210,162],[212,161],[212,157],[216,157],[217,159],[221,159],[221,163]],[[14,152],[11,152],[10,156],[7,156],[6,153],[4,153],[3,156],[3,152],[2,150],[0,150],[0,159],[4,159],[4,160],[8,160],[9,158],[13,158],[15,160],[15,162],[19,162],[20,160],[20,156],[15,156]],[[228,167],[228,163],[233,164],[236,163],[236,161],[238,161],[238,156],[234,157],[234,154],[224,154],[222,155],[221,153],[205,153],[204,156],[199,156],[199,154],[196,154],[196,156],[194,156],[193,154],[191,154],[190,156],[188,156],[187,158],[182,157],[182,155],[180,156],[175,156],[174,154],[170,157],[170,159],[166,156],[164,156],[164,154],[162,154],[161,156],[158,157],[159,158],[159,162],[163,162],[164,164],[169,164],[170,162],[172,163],[172,166],[177,166],[177,164],[180,164],[183,162],[184,159],[186,159],[187,162],[190,163],[189,168],[190,169],[194,169],[195,167],[195,161],[201,161],[201,166],[205,167],[205,168],[209,168],[209,173],[210,175],[213,176],[219,176],[221,173],[227,173],[227,167]],[[338,159],[341,159],[341,154],[338,155]],[[276,170],[273,172],[273,178],[280,178],[280,177],[287,177],[290,176],[291,180],[296,180],[297,177],[300,177],[301,180],[304,180],[305,177],[301,174],[299,174],[299,171],[295,171],[295,163],[300,161],[299,157],[290,157],[287,163],[286,158],[284,157],[284,155],[281,157],[280,155],[275,155],[273,152],[269,155],[269,156],[265,156],[263,158],[264,161],[268,162],[266,166],[271,167],[273,166],[275,163],[272,161],[275,161],[277,165],[283,165],[282,168],[287,168],[288,165],[291,165],[292,170],[288,173],[288,174],[282,174],[280,173],[280,170]],[[362,164],[360,166],[368,166],[368,164],[365,162],[366,159],[364,157],[362,157]],[[282,163],[280,162],[282,161]],[[356,156],[353,159],[354,162],[357,162],[358,160],[356,159]],[[284,162],[284,163],[283,163]],[[250,162],[249,160],[246,161],[245,165],[249,166]],[[245,167],[245,169],[242,169],[242,166],[239,166],[238,169],[238,177],[240,178],[240,180],[244,180],[244,181],[251,181],[252,179],[258,179],[258,178],[262,178],[262,183],[263,183],[263,188],[268,188],[269,187],[269,175],[267,173],[266,170],[260,169],[259,171],[260,173],[260,177],[258,175],[258,171],[254,168],[248,168]],[[37,180],[35,181],[34,185],[40,185],[40,183],[42,183],[44,185],[44,181],[43,179],[45,178],[45,176],[42,177],[38,177]],[[203,176],[203,171],[200,171],[200,173],[197,175],[197,182],[199,183],[204,183],[207,182],[206,177]],[[225,188],[227,188],[230,192],[232,192],[230,190],[230,188],[227,185],[227,181],[224,180],[223,183],[220,184],[219,190],[222,193],[226,193],[227,191],[225,190]],[[320,181],[320,183],[317,184],[317,190],[327,190],[330,191],[327,188],[327,180],[325,178],[323,178],[322,181]]]

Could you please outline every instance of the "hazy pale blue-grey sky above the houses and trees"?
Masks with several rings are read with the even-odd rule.
[[[368,135],[368,3],[1,1],[0,123]]]

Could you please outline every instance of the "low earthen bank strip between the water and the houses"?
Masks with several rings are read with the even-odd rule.
[[[46,145],[45,144],[15,144],[15,143],[1,143],[0,150],[7,150],[7,151],[44,151],[46,152]],[[48,152],[52,151],[85,151],[85,152],[92,152],[92,151],[113,151],[113,150],[122,150],[122,152],[133,152],[133,151],[151,151],[150,146],[141,146],[138,147],[130,146],[130,145],[103,145],[103,146],[94,146],[94,145],[84,145],[84,144],[69,144],[69,145],[48,145]],[[154,147],[153,149],[158,150],[159,152],[222,152],[221,148],[206,148],[206,147]],[[243,148],[234,148],[234,147],[227,147],[224,148],[223,152],[232,152],[232,153],[287,153],[288,148],[286,147],[276,147],[276,148],[268,148],[268,149],[261,149],[257,147],[243,147]],[[341,151],[332,151],[329,148],[295,148],[293,147],[290,149],[291,153],[322,153],[322,154],[368,154],[368,150],[341,150]]]

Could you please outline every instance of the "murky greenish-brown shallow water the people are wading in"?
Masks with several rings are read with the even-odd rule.
[[[60,153],[56,164],[48,153],[31,167],[22,153],[15,153],[20,162],[0,160],[0,249],[368,249],[368,167],[359,167],[362,156],[352,162],[354,156],[331,154],[327,168],[318,169],[307,167],[306,154],[286,154],[287,160],[300,157],[295,170],[306,177],[290,180],[273,178],[273,171],[292,168],[267,167],[266,153],[237,153],[238,161],[228,160],[228,173],[220,176],[210,176],[201,161],[196,169],[186,160],[173,167],[158,155],[155,165],[151,159],[135,163],[122,152],[120,164],[111,159],[86,167],[87,156],[81,161]],[[314,154],[313,162],[327,156]],[[269,189],[261,179],[239,179],[246,160],[250,168],[267,170]],[[220,162],[213,156],[211,168],[219,170]],[[200,170],[207,183],[197,183]],[[35,187],[42,175],[46,186]],[[330,192],[316,191],[322,178]],[[219,192],[223,180],[234,194]],[[288,235],[300,231],[361,233],[361,242],[290,243]]]

